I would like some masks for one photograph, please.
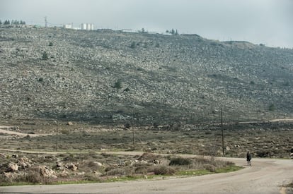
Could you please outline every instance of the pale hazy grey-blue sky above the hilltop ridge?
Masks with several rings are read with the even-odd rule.
[[[293,0],[0,0],[0,20],[196,33],[293,48]]]

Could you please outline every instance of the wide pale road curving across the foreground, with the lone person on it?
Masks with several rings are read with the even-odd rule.
[[[293,180],[293,160],[223,158],[245,168],[226,174],[115,183],[58,186],[8,186],[0,193],[293,193],[282,185]]]

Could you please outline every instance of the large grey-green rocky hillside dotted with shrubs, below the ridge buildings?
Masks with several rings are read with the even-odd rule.
[[[0,121],[293,117],[293,50],[198,35],[0,28]]]

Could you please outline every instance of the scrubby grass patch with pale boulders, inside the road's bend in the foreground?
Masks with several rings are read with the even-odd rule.
[[[6,152],[8,155],[9,152]],[[119,154],[94,154],[98,160],[91,158],[93,153],[84,154],[18,154],[16,158],[10,158],[11,162],[18,163],[21,157],[30,160],[30,167],[18,169],[16,172],[7,172],[1,169],[1,186],[14,184],[51,184],[68,181],[95,181],[103,182],[111,178],[136,178],[150,175],[171,176],[180,174],[180,171],[207,169],[215,172],[222,166],[229,167],[229,163],[203,157],[181,158],[174,155],[161,156],[158,154],[144,153],[137,156]],[[74,161],[72,163],[71,160]],[[174,163],[175,162],[175,163]],[[74,164],[77,169],[69,166]],[[170,164],[170,165],[169,165]],[[7,164],[1,164],[7,166]],[[54,176],[40,174],[40,167],[54,172]],[[7,172],[4,174],[4,172]],[[123,179],[125,180],[125,179]]]

